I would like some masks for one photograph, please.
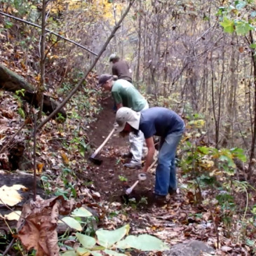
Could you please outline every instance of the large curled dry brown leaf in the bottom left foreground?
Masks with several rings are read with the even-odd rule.
[[[65,201],[62,196],[29,201],[23,206],[17,224],[18,237],[27,250],[34,248],[36,256],[58,256],[58,234],[56,231],[59,211],[70,213],[74,201]]]

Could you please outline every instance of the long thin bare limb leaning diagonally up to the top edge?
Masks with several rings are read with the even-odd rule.
[[[83,81],[86,79],[86,77],[88,76],[88,74],[91,72],[91,70],[93,70],[93,67],[95,67],[97,61],[100,59],[100,56],[102,55],[102,53],[106,50],[107,45],[109,44],[109,42],[111,41],[111,39],[114,37],[114,34],[116,33],[117,29],[119,29],[121,22],[123,21],[124,18],[126,18],[126,15],[128,14],[128,12],[130,11],[130,7],[133,5],[135,0],[130,0],[130,4],[128,5],[128,7],[126,8],[126,11],[123,13],[122,17],[120,18],[119,22],[116,23],[116,26],[114,27],[114,29],[112,30],[112,33],[110,34],[110,36],[108,37],[107,41],[105,42],[104,46],[102,46],[100,53],[98,53],[97,57],[95,58],[93,64],[89,67],[88,71],[86,72],[86,74],[81,78],[81,80],[79,81],[79,83],[77,83],[77,85],[74,87],[74,89],[69,93],[69,95],[67,95],[67,97],[65,98],[65,100],[63,100],[60,105],[57,107],[57,109],[55,109],[53,111],[53,113],[51,113],[46,119],[44,119],[41,123],[39,123],[39,125],[37,126],[37,130],[39,130],[40,128],[42,128],[46,123],[48,123],[48,121],[51,119],[52,116],[54,116],[55,114],[58,113],[59,109],[61,109],[62,107],[65,106],[65,104],[71,99],[71,97],[74,95],[74,93],[76,93],[76,90],[79,89],[79,87],[81,86],[81,84],[83,83]]]

